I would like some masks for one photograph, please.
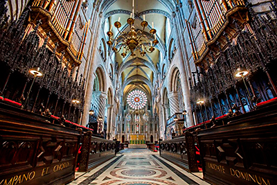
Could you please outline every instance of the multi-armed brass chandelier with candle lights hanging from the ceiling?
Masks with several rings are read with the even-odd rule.
[[[150,32],[150,37],[147,37],[144,34],[145,27],[148,26],[148,22],[145,21],[145,15],[143,15],[143,21],[141,22],[141,26],[143,27],[143,30],[137,30],[134,27],[134,0],[133,0],[133,9],[130,17],[127,19],[127,24],[129,24],[129,32],[125,31],[120,31],[119,28],[121,27],[120,24],[120,17],[118,18],[118,21],[114,23],[114,26],[118,30],[118,37],[112,39],[111,37],[114,35],[114,33],[111,32],[110,30],[107,32],[107,35],[109,36],[109,40],[107,41],[107,44],[109,47],[112,46],[112,50],[115,53],[120,52],[120,50],[123,48],[123,53],[121,55],[123,58],[127,55],[127,52],[130,51],[131,55],[134,57],[136,54],[134,53],[135,51],[139,51],[141,56],[145,56],[146,52],[152,53],[155,49],[154,46],[156,46],[159,41],[157,40],[157,30],[154,29],[154,23],[152,22],[152,29],[149,31]],[[150,43],[147,41],[148,39],[153,39],[150,41]],[[122,40],[122,44],[119,49],[116,48],[117,44]],[[114,43],[113,43],[114,42]],[[114,46],[113,46],[114,44]],[[147,49],[147,46],[149,46],[149,49]],[[146,51],[146,52],[145,52]]]

